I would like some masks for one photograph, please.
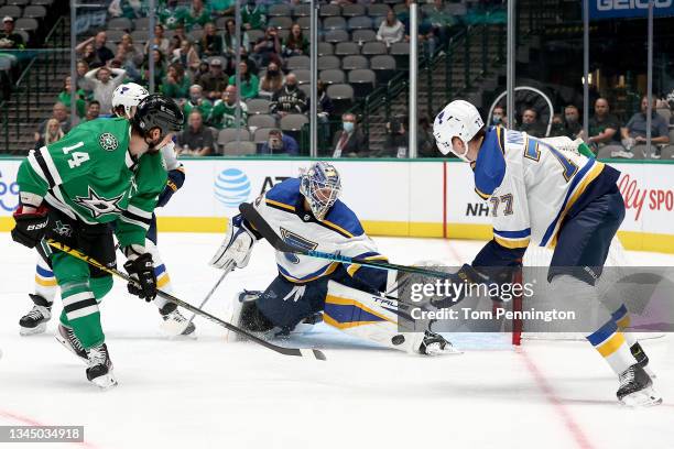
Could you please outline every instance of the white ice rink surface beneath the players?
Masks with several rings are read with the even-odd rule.
[[[469,261],[480,243],[376,239],[393,262]],[[162,234],[160,249],[175,294],[198,304],[219,276],[206,262],[216,234]],[[84,425],[79,445],[17,448],[674,448],[672,337],[644,341],[664,404],[617,404],[617,380],[587,343],[526,342],[424,359],[362,344],[325,328],[295,344],[328,361],[282,357],[252,343],[228,343],[221,328],[197,319],[196,340],[159,330],[153,305],[116,282],[102,321],[119,386],[100,392],[84,365],[53,337],[22,338],[34,254],[0,236],[0,425]],[[637,262],[674,264],[661,254]],[[221,315],[232,295],[264,288],[272,251],[256,248],[206,309]],[[58,300],[57,300],[58,304]],[[57,311],[59,311],[59,307]],[[503,341],[501,339],[501,341]],[[479,346],[479,344],[478,344]]]

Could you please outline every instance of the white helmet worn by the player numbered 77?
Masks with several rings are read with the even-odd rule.
[[[438,150],[447,155],[449,152],[456,154],[466,162],[469,161],[468,142],[485,127],[477,108],[468,101],[454,100],[445,106],[445,109],[435,117],[433,122],[433,135],[437,142]],[[452,139],[459,138],[464,142],[464,153],[454,152]]]

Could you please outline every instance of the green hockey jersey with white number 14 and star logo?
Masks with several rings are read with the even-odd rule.
[[[30,152],[19,167],[19,188],[85,223],[115,221],[121,247],[144,245],[167,174],[161,152],[138,161],[131,156],[130,135],[127,119],[81,123],[58,142]]]

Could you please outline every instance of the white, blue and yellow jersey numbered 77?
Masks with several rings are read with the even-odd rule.
[[[477,194],[490,201],[493,238],[508,249],[553,247],[565,216],[597,193],[589,187],[599,175],[610,172],[601,184],[618,177],[601,162],[501,127],[488,130],[472,168]]]

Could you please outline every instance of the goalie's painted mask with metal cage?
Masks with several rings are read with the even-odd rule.
[[[323,221],[341,193],[341,177],[331,164],[319,161],[300,175],[300,193],[314,217]]]

